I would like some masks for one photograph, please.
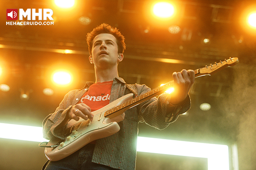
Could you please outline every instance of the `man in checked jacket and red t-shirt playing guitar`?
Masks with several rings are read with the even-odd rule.
[[[49,155],[46,152],[50,161],[44,168],[45,170],[135,170],[138,122],[164,129],[174,122],[178,115],[189,110],[188,93],[194,83],[195,73],[193,70],[184,69],[181,72],[174,72],[174,93],[164,93],[158,98],[147,99],[148,95],[154,93],[154,91],[151,93],[149,87],[138,84],[128,85],[119,77],[118,63],[124,59],[123,52],[126,45],[124,36],[117,28],[101,24],[87,34],[87,43],[90,53],[89,61],[94,64],[95,82],[88,82],[84,88],[67,93],[55,112],[49,114],[43,121],[43,133],[46,139],[57,138],[64,141],[58,144],[59,148],[50,148]],[[145,100],[125,110],[125,116],[120,113],[121,117],[106,118],[110,112],[132,105],[132,101],[131,104],[128,102],[123,105],[119,102],[115,103],[129,93],[134,93],[132,97],[140,96],[134,99],[135,102],[141,100],[144,93],[146,97],[143,95]],[[111,103],[118,107],[111,106],[114,109],[110,108],[110,112],[102,111],[104,106]],[[101,110],[104,114],[96,114],[97,110]],[[75,127],[68,128],[68,123],[72,121],[87,121],[86,127],[95,126],[95,130],[88,130],[88,133],[79,136],[82,132],[77,134],[77,131],[83,127],[77,124]],[[112,127],[109,128],[110,126],[96,127],[99,122],[102,125],[114,122],[115,128],[118,128],[117,132],[111,134],[110,131],[115,130]],[[103,130],[105,128],[109,129]],[[81,140],[82,137],[84,137],[83,140]],[[74,138],[77,141],[80,140],[79,144],[82,145],[78,146],[78,142],[75,141],[68,143]],[[56,152],[58,155],[65,149],[64,147],[71,149],[51,158],[51,152]],[[72,148],[76,149],[67,154]],[[62,155],[65,156],[62,157]]]

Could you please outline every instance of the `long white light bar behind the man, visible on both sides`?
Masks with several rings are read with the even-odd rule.
[[[0,123],[0,129],[8,129],[0,131],[0,138],[33,142],[49,141],[43,138],[42,127]],[[137,152],[207,158],[208,170],[229,170],[229,147],[222,144],[205,144],[138,136]]]

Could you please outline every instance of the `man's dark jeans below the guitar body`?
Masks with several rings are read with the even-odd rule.
[[[115,170],[108,166],[91,162],[94,144],[87,144],[82,149],[59,161],[48,161],[42,170]]]

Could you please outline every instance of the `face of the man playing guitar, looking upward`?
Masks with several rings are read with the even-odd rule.
[[[116,65],[119,61],[116,37],[108,33],[95,36],[92,42],[90,57],[95,67],[110,67]]]

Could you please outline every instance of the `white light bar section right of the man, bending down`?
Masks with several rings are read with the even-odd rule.
[[[207,158],[208,170],[229,170],[227,145],[138,137],[137,152]]]

